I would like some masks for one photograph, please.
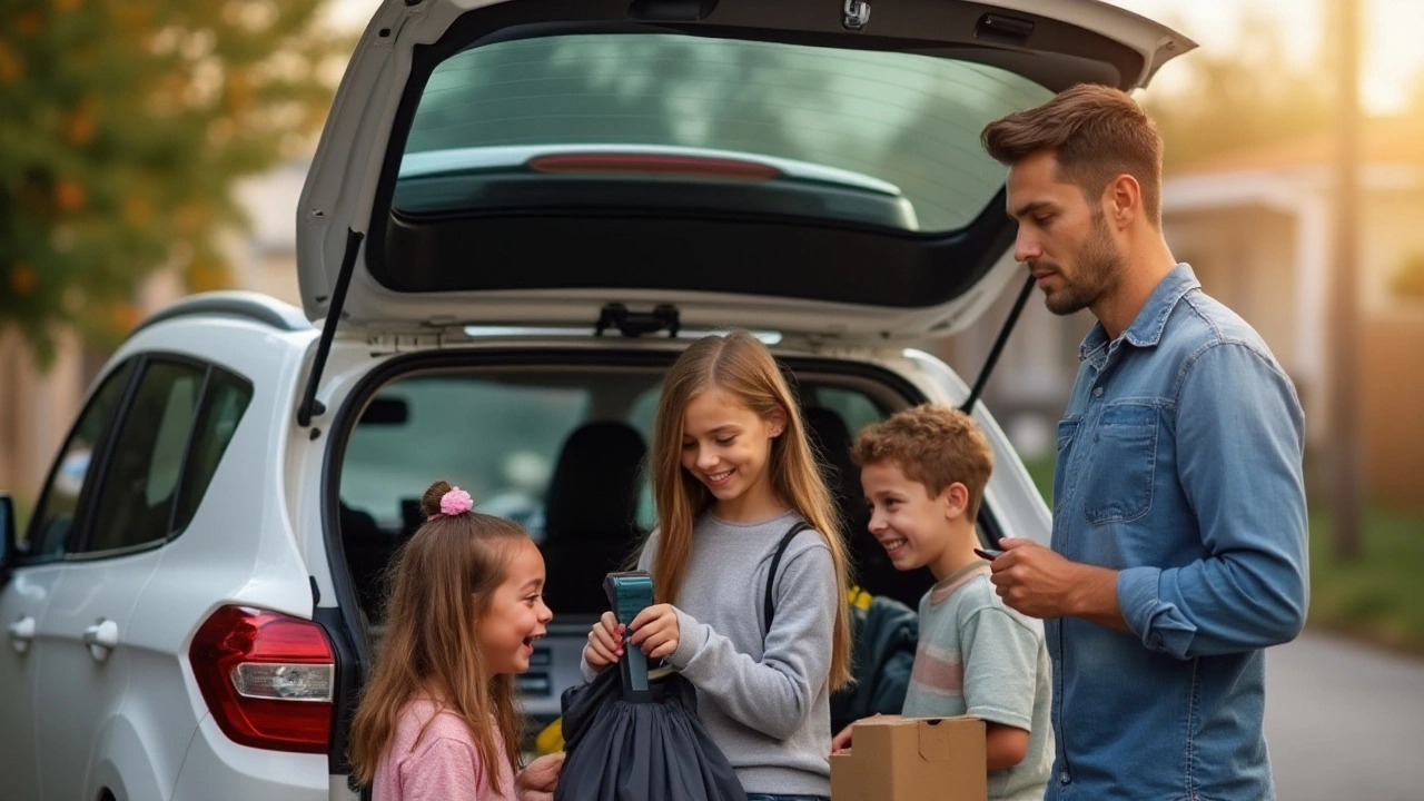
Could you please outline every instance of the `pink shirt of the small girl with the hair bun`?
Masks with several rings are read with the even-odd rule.
[[[430,725],[420,728],[434,715]],[[494,728],[494,721],[490,721]],[[416,737],[420,735],[420,743]],[[376,765],[372,782],[375,801],[514,801],[514,772],[504,757],[498,728],[494,728],[501,792],[490,790],[490,765],[480,764],[470,727],[450,711],[436,713],[430,698],[406,704],[396,724],[396,737]]]

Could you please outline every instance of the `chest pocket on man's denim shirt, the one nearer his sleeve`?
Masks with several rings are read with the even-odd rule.
[[[1159,416],[1151,399],[1102,408],[1085,476],[1091,482],[1082,506],[1088,523],[1128,523],[1152,510]]]

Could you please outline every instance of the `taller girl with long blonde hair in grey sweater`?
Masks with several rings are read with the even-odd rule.
[[[649,472],[659,529],[638,566],[656,604],[627,631],[605,613],[585,677],[624,637],[698,688],[698,715],[750,800],[830,795],[830,691],[850,677],[846,549],[796,402],[743,331],[696,341],[668,371]],[[775,610],[762,620],[769,564]]]

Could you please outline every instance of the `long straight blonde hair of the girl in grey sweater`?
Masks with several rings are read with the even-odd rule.
[[[786,430],[772,439],[768,465],[772,490],[826,539],[836,566],[836,597],[842,597],[850,583],[846,544],[830,490],[806,440],[800,406],[770,351],[750,334],[733,331],[693,342],[664,379],[648,462],[659,532],[652,570],[656,600],[674,603],[678,597],[692,553],[692,524],[713,502],[711,490],[682,469],[684,412],[693,398],[712,386],[735,396],[763,420],[778,410],[786,415]],[[849,614],[844,603],[836,604],[832,690],[850,680]]]

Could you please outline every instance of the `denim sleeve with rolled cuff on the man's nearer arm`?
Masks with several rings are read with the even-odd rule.
[[[1128,567],[1116,596],[1128,629],[1178,658],[1294,639],[1309,594],[1303,418],[1289,379],[1242,343],[1183,368],[1178,479],[1210,554],[1182,567]]]

